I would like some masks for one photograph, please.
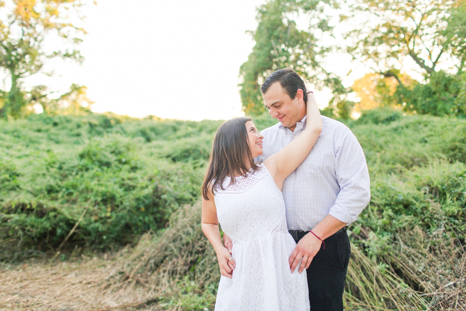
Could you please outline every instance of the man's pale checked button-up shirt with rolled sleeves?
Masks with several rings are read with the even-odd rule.
[[[295,131],[275,124],[264,136],[263,162],[280,151],[306,127],[306,117]],[[370,180],[363,149],[349,128],[322,116],[322,133],[308,157],[283,183],[288,229],[309,231],[330,214],[350,224],[370,200]]]

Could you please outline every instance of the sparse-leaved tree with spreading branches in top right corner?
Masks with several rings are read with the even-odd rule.
[[[346,33],[348,52],[375,72],[394,77],[406,58],[420,73],[430,75],[441,62],[459,71],[466,60],[464,0],[358,0],[351,21],[359,26]],[[366,16],[366,18],[362,18]],[[347,20],[349,16],[342,15]]]

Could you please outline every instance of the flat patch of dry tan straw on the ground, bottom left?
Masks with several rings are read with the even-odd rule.
[[[123,293],[104,294],[106,280],[118,270],[117,261],[107,255],[0,269],[0,310],[110,310],[132,303],[133,297]]]

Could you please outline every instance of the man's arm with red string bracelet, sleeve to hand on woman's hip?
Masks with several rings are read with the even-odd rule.
[[[345,130],[342,135],[336,135],[340,140],[335,144],[335,171],[340,193],[329,214],[312,229],[322,240],[356,221],[370,200],[369,171],[363,149],[353,133],[349,129]],[[296,245],[288,259],[291,272],[295,270],[301,258],[298,270],[300,273],[311,264],[322,244],[315,235],[308,233]]]

